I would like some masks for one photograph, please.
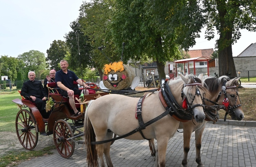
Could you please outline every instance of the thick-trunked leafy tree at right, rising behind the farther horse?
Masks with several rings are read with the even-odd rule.
[[[219,39],[218,48],[219,76],[237,77],[232,55],[232,44],[241,37],[240,29],[256,31],[256,1],[255,0],[204,0],[206,22],[206,38],[214,37],[216,28]]]

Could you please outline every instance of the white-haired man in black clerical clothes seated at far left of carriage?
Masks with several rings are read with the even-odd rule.
[[[24,96],[27,100],[34,102],[37,105],[43,118],[49,118],[51,112],[46,113],[46,92],[43,88],[41,81],[35,80],[35,72],[28,72],[29,80],[23,83],[20,95]]]

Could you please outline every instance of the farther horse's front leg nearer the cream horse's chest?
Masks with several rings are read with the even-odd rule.
[[[190,138],[191,138],[192,132],[193,132],[193,129],[191,129],[190,127],[185,127],[185,124],[184,124],[184,129],[183,129],[184,155],[183,155],[183,160],[182,160],[182,165],[184,167],[187,167],[187,154],[190,149]]]

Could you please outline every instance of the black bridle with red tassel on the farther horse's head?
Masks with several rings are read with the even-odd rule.
[[[239,95],[238,95],[238,92],[237,92],[237,91],[236,91],[236,102],[234,103],[233,106],[230,106],[230,105],[229,105],[228,98],[227,98],[227,94],[226,94],[226,89],[236,88],[237,86],[236,86],[236,85],[233,85],[233,86],[226,86],[226,83],[227,83],[227,81],[224,81],[224,82],[223,82],[222,89],[221,89],[221,91],[219,92],[218,97],[216,98],[216,102],[213,102],[213,101],[211,101],[211,100],[209,100],[209,99],[203,98],[204,100],[207,100],[207,101],[209,101],[209,102],[211,102],[211,103],[213,103],[213,104],[215,104],[215,105],[217,105],[217,106],[220,106],[217,102],[218,102],[219,98],[221,97],[222,93],[224,94],[224,97],[225,97],[224,100],[223,100],[223,105],[224,105],[224,107],[221,107],[221,106],[219,107],[219,108],[222,108],[222,109],[224,109],[224,110],[226,111],[225,116],[224,116],[224,121],[226,121],[226,118],[227,118],[227,115],[228,115],[228,114],[232,114],[232,115],[235,114],[235,112],[234,112],[234,110],[233,110],[234,108],[237,108],[237,107],[242,106],[241,100],[240,100],[240,98],[239,98]],[[238,104],[238,105],[236,105],[236,103],[237,103],[237,97],[238,97],[238,99],[239,99],[239,101],[240,101],[240,104]],[[218,109],[219,109],[219,108],[218,108]]]

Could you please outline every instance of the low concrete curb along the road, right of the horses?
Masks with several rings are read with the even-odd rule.
[[[208,123],[212,123],[209,121]],[[226,120],[219,119],[216,124],[222,125],[231,125],[231,126],[240,126],[240,127],[256,127],[256,121],[235,121],[235,120]]]

